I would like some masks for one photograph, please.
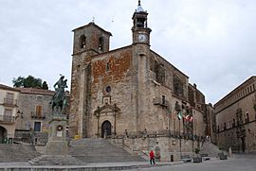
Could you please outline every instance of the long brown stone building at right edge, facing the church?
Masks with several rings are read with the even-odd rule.
[[[249,77],[215,105],[217,143],[237,152],[256,151],[256,77]]]

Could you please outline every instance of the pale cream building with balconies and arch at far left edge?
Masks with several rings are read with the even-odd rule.
[[[0,143],[13,142],[19,94],[19,90],[0,84]]]

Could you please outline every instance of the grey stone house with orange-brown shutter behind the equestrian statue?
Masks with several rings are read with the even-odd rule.
[[[47,141],[48,123],[51,120],[50,102],[54,91],[36,88],[16,88],[20,91],[16,119],[15,140],[35,145],[45,145]],[[68,100],[69,93],[66,92]],[[64,110],[68,117],[68,108]]]

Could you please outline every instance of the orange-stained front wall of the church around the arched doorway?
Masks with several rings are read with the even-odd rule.
[[[124,132],[136,128],[134,123],[134,88],[131,81],[131,48],[122,49],[92,60],[91,111],[89,116],[89,136],[101,136],[101,125],[109,121],[113,130]],[[99,118],[94,111],[105,105],[120,109],[116,116],[113,111],[101,111]],[[115,122],[116,119],[116,122]],[[98,123],[98,124],[97,124]],[[116,125],[116,126],[115,126]],[[100,128],[100,129],[99,129]]]

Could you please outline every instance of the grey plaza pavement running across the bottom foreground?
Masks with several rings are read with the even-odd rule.
[[[92,162],[84,165],[31,166],[28,162],[0,162],[0,171],[9,170],[130,170],[130,171],[255,171],[256,155],[235,155],[229,160],[211,158],[210,161],[193,162]]]

